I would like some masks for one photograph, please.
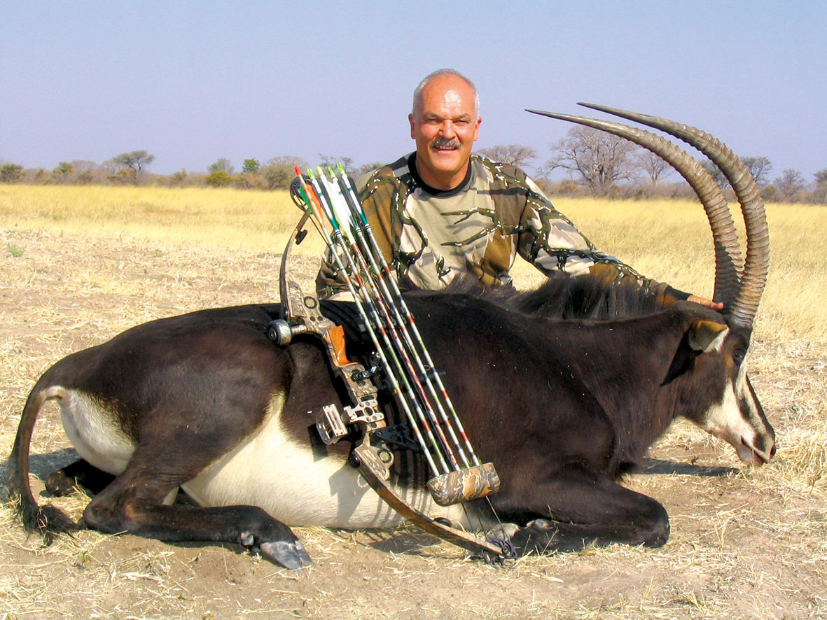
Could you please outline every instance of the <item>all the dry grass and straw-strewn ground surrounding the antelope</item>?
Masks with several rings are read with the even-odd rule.
[[[2,450],[31,385],[60,357],[154,317],[275,298],[279,255],[299,213],[288,200],[0,186]],[[709,265],[711,256],[697,205],[558,207],[644,274],[710,290],[711,267],[695,261]],[[677,424],[653,448],[675,470],[629,480],[667,507],[667,546],[529,556],[491,570],[414,529],[299,528],[317,565],[292,574],[233,546],[79,532],[41,548],[4,507],[0,618],[827,618],[827,265],[808,252],[805,266],[801,255],[819,247],[827,217],[820,207],[782,205],[768,214],[772,272],[749,363],[779,453],[771,465],[739,470],[729,446]],[[310,275],[318,261],[298,262]],[[523,284],[532,278],[521,271]],[[68,448],[50,409],[32,446],[38,488],[72,458]],[[699,473],[715,467],[733,469]],[[86,501],[58,503],[77,517]]]

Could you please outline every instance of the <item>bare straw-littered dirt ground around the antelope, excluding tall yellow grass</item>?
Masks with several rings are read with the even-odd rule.
[[[60,357],[151,318],[277,296],[277,253],[34,231],[0,241],[3,460],[29,389]],[[497,569],[414,527],[297,528],[315,566],[291,572],[231,545],[79,532],[43,547],[4,506],[0,618],[827,618],[825,351],[758,341],[749,363],[777,458],[741,469],[729,446],[679,423],[628,481],[672,518],[660,549]],[[32,455],[38,491],[72,460],[56,408]],[[78,516],[85,501],[55,503]]]

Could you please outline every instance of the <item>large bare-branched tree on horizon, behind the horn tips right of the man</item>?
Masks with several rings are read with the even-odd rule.
[[[621,179],[632,175],[630,155],[638,146],[624,138],[591,127],[576,126],[568,135],[552,144],[546,169],[562,168],[578,174],[591,193],[605,196]]]

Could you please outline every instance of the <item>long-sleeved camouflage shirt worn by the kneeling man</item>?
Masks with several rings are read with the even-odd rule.
[[[415,158],[412,153],[375,170],[360,179],[359,187],[385,260],[419,287],[442,289],[465,273],[474,274],[486,288],[507,282],[519,254],[544,274],[633,279],[654,293],[686,298],[598,252],[521,169],[471,155],[460,186],[439,190],[419,177]],[[345,289],[329,257],[318,274],[317,289],[322,298]]]

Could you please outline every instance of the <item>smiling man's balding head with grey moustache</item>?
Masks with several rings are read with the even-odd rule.
[[[479,107],[474,84],[453,69],[434,71],[414,90],[408,120],[425,183],[452,189],[465,178],[471,146],[480,135]]]

